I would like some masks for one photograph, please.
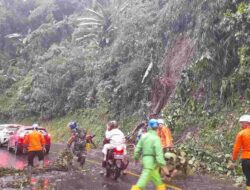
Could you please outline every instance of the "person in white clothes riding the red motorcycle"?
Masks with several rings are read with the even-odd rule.
[[[107,130],[105,132],[105,139],[103,141],[103,161],[102,161],[102,167],[106,167],[106,161],[107,161],[107,154],[109,149],[113,149],[119,145],[122,145],[125,147],[125,135],[123,132],[118,129],[118,123],[117,121],[109,121],[106,125]]]

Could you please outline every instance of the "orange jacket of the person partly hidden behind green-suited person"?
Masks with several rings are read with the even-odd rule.
[[[161,125],[157,130],[157,135],[161,139],[162,148],[171,148],[174,146],[172,134],[168,127]]]

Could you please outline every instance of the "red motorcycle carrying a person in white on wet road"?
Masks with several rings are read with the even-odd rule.
[[[125,158],[124,146],[117,146],[108,150],[106,163],[106,177],[117,180],[127,168],[129,161]]]

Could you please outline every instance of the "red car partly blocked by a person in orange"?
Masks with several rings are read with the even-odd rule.
[[[15,154],[24,154],[27,152],[26,148],[23,145],[24,136],[29,134],[33,128],[31,126],[22,126],[18,130],[16,130],[9,138],[8,142],[8,151],[14,150]],[[44,127],[39,127],[38,131],[40,131],[45,139],[45,148],[46,153],[49,153],[50,144],[51,144],[51,137],[50,134],[47,133]]]

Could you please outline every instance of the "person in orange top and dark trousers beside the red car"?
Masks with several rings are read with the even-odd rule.
[[[38,124],[32,125],[32,132],[24,137],[24,145],[28,147],[28,170],[31,173],[31,169],[34,166],[34,158],[38,156],[39,167],[44,166],[44,151],[45,149],[45,139],[38,131]]]

